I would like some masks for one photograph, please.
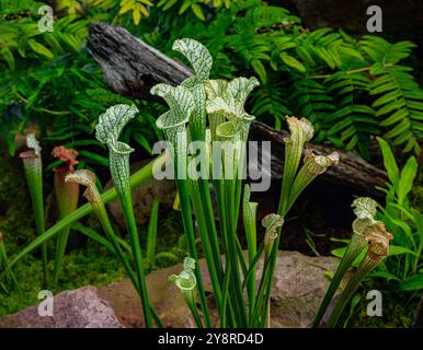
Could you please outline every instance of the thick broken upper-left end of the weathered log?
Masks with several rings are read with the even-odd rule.
[[[88,51],[100,63],[107,86],[133,98],[152,100],[150,89],[157,83],[178,85],[193,73],[123,27],[105,23],[91,24]]]

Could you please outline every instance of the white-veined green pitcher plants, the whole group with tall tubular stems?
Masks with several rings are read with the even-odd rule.
[[[211,56],[196,40],[176,40],[173,49],[185,56],[193,67],[194,74],[178,86],[158,84],[151,89],[151,94],[163,98],[169,106],[169,110],[157,119],[157,126],[165,138],[165,154],[130,176],[129,156],[134,149],[119,141],[119,136],[138,109],[134,105],[124,104],[110,107],[100,116],[95,136],[108,149],[114,188],[101,195],[95,185],[95,174],[88,170],[73,168],[78,162],[76,151],[56,149],[54,154],[65,162],[62,167],[56,168],[55,175],[59,221],[47,231],[44,229],[41,149],[34,136],[28,136],[28,148],[32,150],[21,156],[25,165],[39,236],[11,260],[4,260],[4,254],[3,260],[7,262],[0,275],[1,280],[15,280],[11,267],[25,254],[41,246],[47,282],[45,242],[57,235],[54,270],[54,280],[57,281],[70,224],[93,211],[104,231],[102,240],[119,258],[140,296],[146,327],[162,327],[147,289],[132,187],[152,176],[163,178],[163,166],[168,167],[165,172],[169,172],[171,166],[188,256],[181,273],[171,276],[170,280],[174,281],[181,291],[196,326],[270,327],[271,295],[285,218],[304,189],[329,166],[338,164],[339,154],[315,154],[307,149],[306,144],[313,136],[312,125],[305,118],[287,117],[290,133],[284,139],[285,160],[279,202],[277,211],[268,213],[262,220],[265,235],[263,240],[259,240],[259,205],[250,198],[254,188],[250,185],[242,186],[245,164],[250,167],[250,162],[245,160],[248,153],[251,153],[251,150],[247,152],[248,137],[254,119],[254,116],[244,110],[244,104],[259,82],[255,78],[210,80]],[[262,170],[267,165],[270,166],[270,160],[261,161]],[[254,166],[259,168],[258,164]],[[270,174],[270,167],[264,170],[264,173]],[[262,184],[265,183],[266,180],[262,180]],[[85,188],[83,196],[89,203],[77,209],[80,186]],[[216,202],[211,200],[213,196]],[[105,203],[115,197],[124,212],[129,244],[114,231],[107,215]],[[391,235],[384,223],[375,219],[377,203],[370,198],[358,198],[353,202],[353,207],[357,215],[353,223],[354,234],[313,322],[315,327],[336,325],[361,280],[389,252]],[[243,221],[242,232],[238,228],[239,219]],[[247,252],[240,243],[242,234],[245,236]],[[364,249],[367,252],[363,261],[348,280],[328,323],[322,324],[341,280]],[[205,258],[210,277],[217,323],[211,319],[210,303],[207,302],[198,266],[201,254]],[[262,266],[260,270],[259,262]]]

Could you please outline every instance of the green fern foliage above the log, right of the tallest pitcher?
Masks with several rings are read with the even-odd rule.
[[[252,93],[249,107],[276,128],[294,114],[313,122],[315,142],[356,149],[366,159],[373,136],[420,152],[422,90],[405,66],[412,43],[353,38],[342,30],[310,32],[285,9],[260,0],[215,10],[207,23],[162,19],[151,11],[149,21],[161,25],[146,25],[144,39],[170,54],[169,43],[194,37],[209,48],[220,77],[254,71],[264,89]]]

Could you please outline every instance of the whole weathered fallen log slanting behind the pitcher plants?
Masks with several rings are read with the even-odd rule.
[[[192,70],[133,36],[122,27],[105,23],[90,26],[88,50],[100,63],[107,86],[122,95],[139,100],[153,100],[150,88],[157,83],[176,85],[192,74]],[[282,176],[286,131],[277,131],[255,120],[251,128],[252,140],[272,141],[272,178]],[[308,144],[318,154],[335,151],[330,145]],[[365,162],[358,154],[336,150],[341,162],[321,175],[336,186],[347,187],[359,195],[380,196],[375,186],[382,186],[386,173]]]

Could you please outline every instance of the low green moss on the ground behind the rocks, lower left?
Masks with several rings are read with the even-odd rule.
[[[91,217],[87,220],[87,224],[91,229],[98,229],[96,221]],[[147,228],[140,228],[139,232],[145,248]],[[183,228],[180,212],[170,211],[160,218],[158,225],[159,257],[153,261],[146,260],[147,272],[182,261],[186,255],[186,249],[181,236],[183,236]],[[71,231],[71,237],[73,237],[73,244],[78,246],[65,256],[58,287],[52,290],[54,294],[88,284],[106,285],[126,278],[121,261],[106,248],[93,241],[84,241],[84,236],[75,231]],[[8,250],[18,249],[19,247],[13,242],[8,242]],[[52,257],[53,254],[54,252],[50,249],[49,256]],[[167,254],[168,258],[165,258]],[[53,270],[53,261],[49,262],[49,270]],[[38,254],[35,252],[33,255],[26,256],[13,271],[18,277],[21,292],[13,291],[10,295],[0,293],[0,316],[15,313],[38,302],[37,295],[42,290],[42,265]]]

